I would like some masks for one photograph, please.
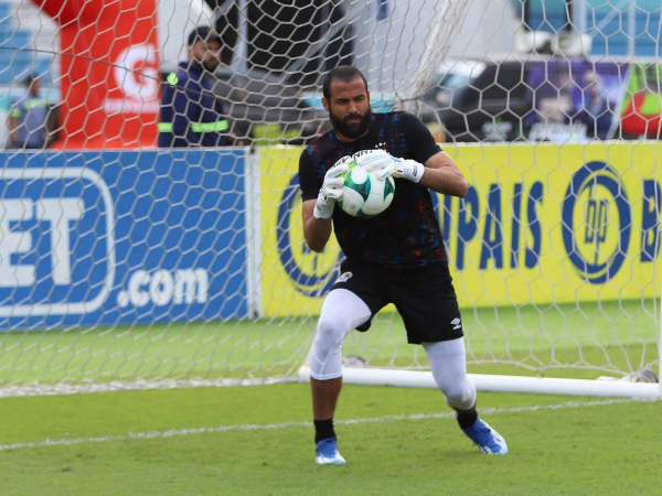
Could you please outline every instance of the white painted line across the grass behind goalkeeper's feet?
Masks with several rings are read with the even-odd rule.
[[[567,408],[585,408],[585,407],[599,407],[618,403],[630,403],[634,401],[654,401],[648,399],[612,399],[602,401],[567,401],[564,403],[555,405],[537,405],[533,407],[513,407],[513,408],[483,408],[480,409],[481,414],[495,414],[495,413],[517,413],[517,412],[530,412],[530,411],[542,411],[542,410],[563,410]],[[427,419],[446,419],[453,418],[453,412],[444,413],[418,413],[412,416],[384,416],[384,417],[365,417],[359,419],[337,420],[334,423],[341,425],[352,425],[357,423],[381,423],[381,422],[399,422],[402,420],[427,420]],[[47,446],[68,446],[73,444],[88,444],[88,443],[107,443],[111,441],[128,441],[128,440],[142,440],[142,439],[168,439],[181,435],[194,435],[194,434],[212,434],[218,432],[229,431],[260,431],[260,430],[275,430],[275,429],[289,429],[289,428],[310,428],[311,421],[303,422],[281,422],[281,423],[243,423],[234,425],[218,425],[214,428],[194,428],[194,429],[173,429],[170,431],[152,431],[152,432],[129,432],[125,435],[105,435],[102,438],[77,438],[77,439],[45,439],[43,441],[34,441],[29,443],[13,443],[13,444],[0,444],[0,451],[7,450],[22,450],[25,448],[47,448]]]

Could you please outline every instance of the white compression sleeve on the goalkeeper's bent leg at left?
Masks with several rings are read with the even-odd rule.
[[[367,322],[370,315],[365,302],[351,291],[337,289],[327,295],[310,353],[313,379],[342,376],[342,343],[348,333]]]

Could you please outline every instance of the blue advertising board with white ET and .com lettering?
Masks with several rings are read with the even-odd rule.
[[[248,314],[243,150],[0,154],[0,328]]]

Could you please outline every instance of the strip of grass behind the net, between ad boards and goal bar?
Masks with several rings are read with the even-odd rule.
[[[652,300],[466,309],[470,371],[596,378],[639,370],[658,357],[655,315]],[[313,325],[313,317],[293,317],[0,333],[0,385],[292,375]],[[426,363],[391,314],[351,333],[344,353],[376,366]]]

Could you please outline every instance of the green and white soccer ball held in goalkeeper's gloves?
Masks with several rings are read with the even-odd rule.
[[[375,217],[388,208],[395,194],[393,177],[382,181],[363,165],[350,162],[350,171],[343,175],[344,186],[339,206],[353,217]]]

